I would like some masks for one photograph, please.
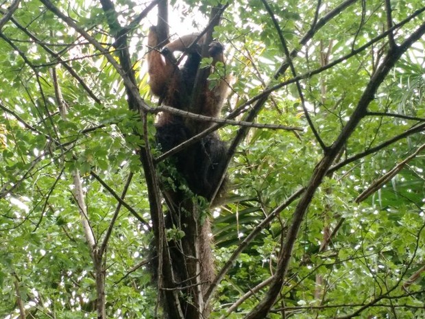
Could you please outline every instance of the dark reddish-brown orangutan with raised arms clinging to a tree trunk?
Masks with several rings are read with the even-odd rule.
[[[147,55],[149,86],[152,93],[159,97],[164,105],[189,110],[195,76],[201,60],[199,45],[204,41],[201,38],[197,45],[189,50],[195,39],[197,34],[182,36],[166,45],[161,51],[158,47],[156,28],[151,27],[149,31],[148,45],[151,47]],[[174,51],[187,54],[183,67],[178,67],[177,60],[173,56]],[[223,46],[220,43],[211,43],[208,54],[213,58],[213,67],[217,62],[224,63]],[[228,93],[227,79],[219,80],[213,88],[209,88],[208,80],[201,85],[202,92],[197,102],[199,104],[196,108],[197,113],[209,117],[219,116]],[[209,126],[211,123],[207,121],[183,119],[165,112],[159,116],[156,123],[156,138],[162,151],[166,152]],[[215,187],[221,179],[225,154],[226,146],[217,134],[212,133],[175,156],[177,169],[186,178],[193,193],[211,200]]]

